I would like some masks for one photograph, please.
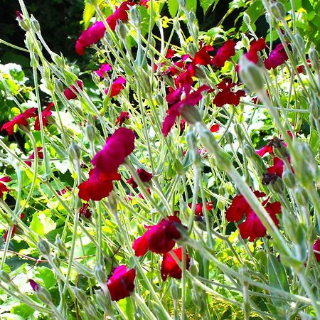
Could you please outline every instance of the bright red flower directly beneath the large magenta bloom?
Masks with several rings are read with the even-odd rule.
[[[97,168],[91,169],[87,181],[78,186],[80,199],[89,201],[100,201],[109,196],[113,189],[113,180],[120,180],[120,175],[116,173],[105,174]]]

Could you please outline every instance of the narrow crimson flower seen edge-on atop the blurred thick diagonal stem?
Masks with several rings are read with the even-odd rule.
[[[166,118],[162,123],[161,131],[164,134],[164,137],[166,137],[169,134],[171,128],[174,126],[174,122],[176,122],[176,117],[178,117],[181,114],[181,110],[183,110],[183,107],[186,107],[186,105],[197,105],[198,102],[202,99],[201,92],[203,92],[204,90],[208,90],[208,86],[202,85],[198,88],[198,90],[187,95],[183,100],[177,102],[175,105],[170,107],[170,109],[167,112]]]

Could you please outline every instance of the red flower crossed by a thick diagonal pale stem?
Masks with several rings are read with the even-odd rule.
[[[265,196],[265,193],[255,191],[255,196],[261,198]],[[278,225],[279,221],[277,220],[276,214],[280,212],[281,204],[279,202],[269,203],[268,201],[269,198],[263,201],[262,206],[264,206],[267,213],[270,214],[270,218],[272,218],[275,225]],[[252,210],[249,203],[247,203],[244,196],[235,196],[235,198],[233,198],[233,203],[225,213],[229,222],[240,221],[243,216],[246,215],[245,221],[239,225],[240,235],[243,239],[249,238],[249,241],[253,241],[256,238],[261,238],[266,235],[267,230],[265,229],[265,226]]]

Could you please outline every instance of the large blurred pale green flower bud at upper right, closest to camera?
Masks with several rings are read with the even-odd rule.
[[[244,55],[240,57],[240,79],[252,91],[261,91],[265,86],[262,70],[247,60]]]

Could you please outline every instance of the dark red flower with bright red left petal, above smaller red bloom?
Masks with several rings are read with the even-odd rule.
[[[176,216],[170,216],[167,219],[162,219],[157,225],[145,227],[148,229],[142,237],[134,240],[132,248],[137,257],[141,257],[150,250],[156,253],[169,252],[176,244],[181,235],[178,232],[175,223],[180,223],[181,220]]]

